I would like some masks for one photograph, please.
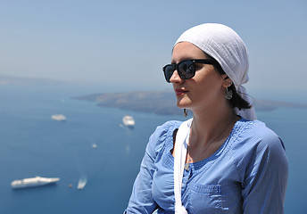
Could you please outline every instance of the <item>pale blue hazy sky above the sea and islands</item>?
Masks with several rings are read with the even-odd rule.
[[[178,36],[224,23],[250,56],[247,86],[307,91],[307,1],[0,1],[0,74],[165,88]]]

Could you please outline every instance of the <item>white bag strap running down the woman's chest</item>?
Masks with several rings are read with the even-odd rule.
[[[190,128],[193,119],[184,121],[178,128],[176,135],[176,146],[174,149],[174,193],[175,193],[175,214],[187,214],[187,210],[182,206],[181,187],[183,170],[187,158],[187,144],[190,135]]]

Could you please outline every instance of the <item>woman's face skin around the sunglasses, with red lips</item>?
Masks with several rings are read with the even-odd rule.
[[[208,59],[205,53],[195,45],[188,42],[178,43],[174,46],[171,63],[184,60]],[[226,76],[226,75],[225,75]],[[195,76],[182,79],[175,70],[170,78],[173,84],[177,105],[191,111],[204,111],[218,106],[221,99],[225,99],[225,80],[211,64],[195,64]]]

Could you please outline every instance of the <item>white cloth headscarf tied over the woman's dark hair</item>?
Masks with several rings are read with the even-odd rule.
[[[236,91],[248,103],[253,103],[252,98],[247,95],[245,87],[242,86],[248,81],[246,47],[233,29],[222,24],[206,23],[187,29],[178,38],[176,44],[179,42],[189,42],[212,56],[233,81]],[[236,113],[245,119],[256,119],[253,106],[251,109],[241,111],[236,108]]]

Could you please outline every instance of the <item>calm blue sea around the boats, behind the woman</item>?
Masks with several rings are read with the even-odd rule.
[[[103,88],[91,86],[0,86],[0,214],[125,210],[148,137],[165,121],[185,118],[71,99],[101,92]],[[306,213],[307,109],[257,113],[286,144],[290,169],[286,214]],[[52,120],[53,114],[63,114],[67,121]],[[122,126],[126,114],[135,118],[135,128]],[[12,190],[12,180],[36,176],[61,180]],[[79,190],[82,177],[87,177],[87,185]]]

